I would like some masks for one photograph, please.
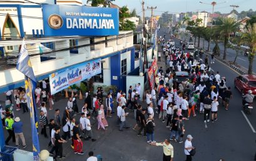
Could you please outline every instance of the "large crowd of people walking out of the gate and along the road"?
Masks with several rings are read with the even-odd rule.
[[[126,117],[131,112],[135,119],[135,125],[132,129],[136,131],[136,135],[140,137],[143,132],[148,144],[163,146],[163,160],[172,160],[173,146],[170,143],[171,141],[183,143],[187,120],[202,114],[204,116],[202,121],[207,125],[210,121],[216,122],[218,120],[217,114],[220,103],[225,110],[229,109],[228,104],[232,99],[232,92],[230,87],[226,86],[227,79],[221,77],[219,72],[212,72],[208,66],[208,58],[203,61],[193,52],[185,52],[171,41],[165,41],[165,39],[159,41],[163,52],[158,54],[158,61],[164,57],[166,67],[165,70],[163,67],[158,69],[153,89],[146,89],[143,95],[141,95],[143,91],[141,91],[140,83],[136,84],[135,87],[130,85],[127,97],[122,90],[118,90],[116,95],[110,90],[106,94],[106,99],[103,99],[104,91],[102,87],[99,87],[92,97],[90,91],[86,92],[81,109],[79,109],[76,100],[78,95],[73,94],[68,98],[62,117],[59,109],[55,109],[54,117],[49,117],[48,110],[53,110],[54,105],[53,95],[46,87],[45,81],[43,81],[43,90],[39,86],[36,88],[35,98],[40,114],[41,135],[48,138],[49,134],[48,147],[51,147],[50,154],[54,158],[63,159],[65,157],[62,146],[69,140],[71,140],[70,146],[74,154],[84,154],[83,141],[96,141],[91,128],[92,119],[97,120],[98,126],[96,128],[98,130],[106,130],[108,119],[112,118],[116,112],[118,130],[123,132],[124,129],[130,129],[126,125]],[[213,62],[214,57],[212,57]],[[187,79],[178,81],[176,72],[187,72]],[[21,138],[23,147],[26,148],[22,130],[23,124],[19,117],[14,117],[12,95],[16,101],[16,110],[22,108],[23,112],[29,111],[24,89],[6,92],[5,110],[0,105],[3,126],[9,134],[6,144],[8,145],[9,140],[13,139],[13,142],[16,142],[19,147],[18,139]],[[114,96],[116,102],[114,102]],[[141,101],[143,99],[145,102]],[[77,119],[77,115],[80,116],[79,119]],[[170,132],[169,139],[161,143],[155,140],[156,119],[161,119],[163,123],[166,122],[166,128]],[[47,132],[48,128],[49,132]],[[192,152],[195,152],[192,139],[192,135],[188,134],[185,140],[184,152],[187,161],[192,160]],[[93,152],[90,152],[89,155],[92,158]],[[93,159],[96,160],[96,157]]]

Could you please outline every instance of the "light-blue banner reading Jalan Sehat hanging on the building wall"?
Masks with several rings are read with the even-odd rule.
[[[101,59],[83,62],[49,75],[51,94],[101,73]]]

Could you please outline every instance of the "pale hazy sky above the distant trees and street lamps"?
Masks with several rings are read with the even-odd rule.
[[[142,0],[115,0],[113,3],[118,6],[128,6],[130,10],[136,9],[138,15],[142,16],[142,8],[141,8]],[[199,1],[208,3],[201,4]],[[145,0],[145,8],[155,7],[154,11],[155,16],[161,16],[164,11],[168,11],[169,13],[180,13],[186,11],[207,11],[212,12],[212,6],[210,3],[212,0]],[[214,11],[220,11],[222,13],[229,13],[232,11],[232,7],[230,5],[238,5],[239,7],[236,9],[238,12],[248,11],[249,9],[256,9],[256,0],[215,0],[217,5],[215,6]],[[224,2],[224,3],[222,3]],[[218,4],[220,3],[220,4]],[[150,16],[151,11],[146,10],[146,16]]]

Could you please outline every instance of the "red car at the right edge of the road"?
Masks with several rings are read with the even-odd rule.
[[[248,90],[252,90],[252,94],[256,95],[256,76],[255,75],[242,75],[235,78],[235,88],[242,94],[247,94]]]

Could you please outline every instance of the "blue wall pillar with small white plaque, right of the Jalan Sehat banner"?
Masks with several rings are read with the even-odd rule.
[[[116,85],[120,89],[121,81],[121,57],[120,52],[115,56],[110,57],[110,76],[111,76],[111,85]],[[113,79],[114,78],[114,79]]]

